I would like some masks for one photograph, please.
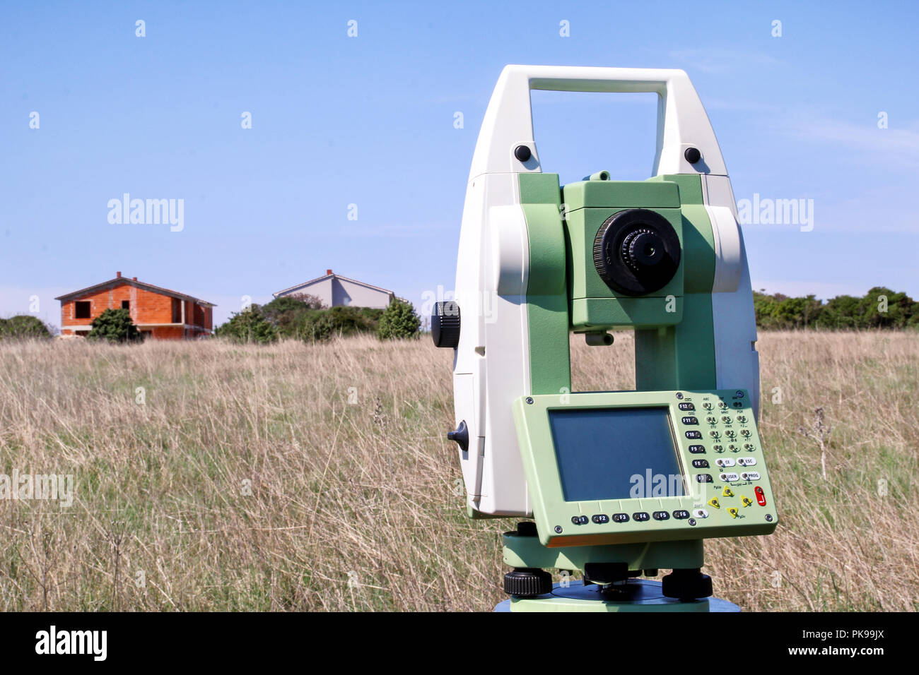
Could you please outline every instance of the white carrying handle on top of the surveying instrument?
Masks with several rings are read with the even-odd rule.
[[[657,107],[657,149],[653,173],[727,175],[715,132],[695,87],[682,70],[508,65],[485,110],[472,156],[470,180],[481,174],[539,172],[533,139],[533,89],[563,92],[653,92]],[[515,156],[519,145],[530,156]],[[690,162],[698,150],[699,158]],[[526,156],[527,152],[518,152]],[[689,155],[688,157],[686,155]]]

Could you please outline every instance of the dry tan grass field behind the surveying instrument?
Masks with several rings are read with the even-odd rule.
[[[716,594],[919,609],[919,336],[759,349],[782,522],[706,544]],[[630,336],[573,353],[575,389],[631,387]],[[818,407],[825,479],[798,433]],[[0,473],[74,477],[69,508],[0,501],[0,609],[489,610],[513,521],[466,519],[452,422],[427,339],[0,343]]]

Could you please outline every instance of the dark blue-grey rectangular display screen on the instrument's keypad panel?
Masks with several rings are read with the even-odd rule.
[[[550,410],[565,501],[679,497],[667,408]]]

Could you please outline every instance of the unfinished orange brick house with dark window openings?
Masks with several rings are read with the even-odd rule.
[[[61,300],[62,335],[85,336],[106,309],[128,309],[130,320],[145,339],[181,340],[213,332],[212,303],[144,284],[136,276],[129,279],[120,272],[114,279],[54,299]]]

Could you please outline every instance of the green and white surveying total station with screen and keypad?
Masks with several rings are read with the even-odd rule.
[[[656,93],[653,177],[560,186],[539,163],[534,89]],[[635,390],[573,392],[569,334],[612,348],[625,328]],[[702,540],[770,534],[778,516],[743,235],[685,72],[505,67],[431,332],[455,350],[448,438],[470,517],[535,520],[503,537],[510,610],[737,609],[710,597]]]

